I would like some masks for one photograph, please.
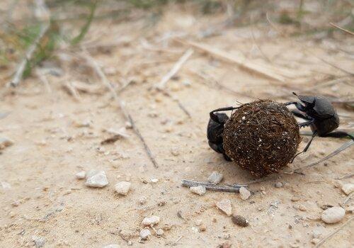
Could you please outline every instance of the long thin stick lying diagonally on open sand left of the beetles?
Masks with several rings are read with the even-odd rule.
[[[132,119],[132,115],[130,115],[130,113],[126,110],[125,103],[122,100],[120,100],[120,98],[118,97],[118,94],[113,89],[113,86],[112,86],[112,84],[110,84],[107,77],[105,77],[104,72],[102,71],[101,67],[98,65],[96,60],[94,60],[93,57],[91,57],[91,55],[89,54],[89,52],[86,49],[84,49],[84,53],[85,53],[85,57],[86,57],[87,62],[89,62],[91,64],[93,69],[95,69],[96,73],[101,78],[101,81],[103,82],[103,84],[105,84],[105,86],[107,86],[107,88],[110,90],[110,92],[113,95],[113,98],[115,98],[115,101],[118,103],[118,107],[120,108],[123,115],[125,116],[125,119],[130,122],[130,124],[132,125],[132,129],[134,130],[136,135],[139,137],[139,139],[142,141],[142,144],[144,145],[144,149],[147,152],[147,156],[151,160],[152,164],[154,164],[155,168],[158,168],[159,165],[157,164],[156,160],[154,159],[154,156],[152,155],[152,152],[151,152],[149,146],[147,145],[147,142],[145,142],[145,139],[144,139],[144,137],[142,137],[142,134],[140,133],[139,129],[137,128],[137,125],[135,125],[135,122]]]

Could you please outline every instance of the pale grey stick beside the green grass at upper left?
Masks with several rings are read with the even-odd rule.
[[[35,50],[37,49],[38,45],[40,44],[40,40],[42,40],[43,36],[45,33],[47,33],[47,30],[49,28],[49,24],[45,24],[40,28],[40,33],[38,34],[37,38],[35,38],[35,41],[28,47],[27,52],[25,52],[25,57],[23,57],[23,60],[21,61],[20,64],[18,64],[18,67],[16,69],[15,74],[13,75],[13,78],[11,81],[8,82],[8,85],[16,87],[18,84],[20,84],[21,79],[23,77],[23,72],[25,72],[25,67],[28,62],[32,59],[33,54],[35,53]]]

